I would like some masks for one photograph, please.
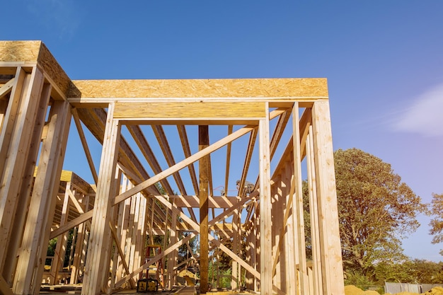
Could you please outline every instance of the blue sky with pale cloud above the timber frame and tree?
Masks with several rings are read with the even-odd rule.
[[[357,147],[391,163],[424,202],[443,193],[443,1],[1,7],[0,39],[42,40],[71,79],[326,77],[334,149]],[[75,162],[67,158],[65,168],[76,171]],[[443,245],[430,244],[429,219],[420,221],[405,253],[443,260]]]

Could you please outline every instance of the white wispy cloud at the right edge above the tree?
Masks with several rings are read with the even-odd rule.
[[[443,83],[415,98],[396,116],[393,129],[426,137],[443,136]]]

